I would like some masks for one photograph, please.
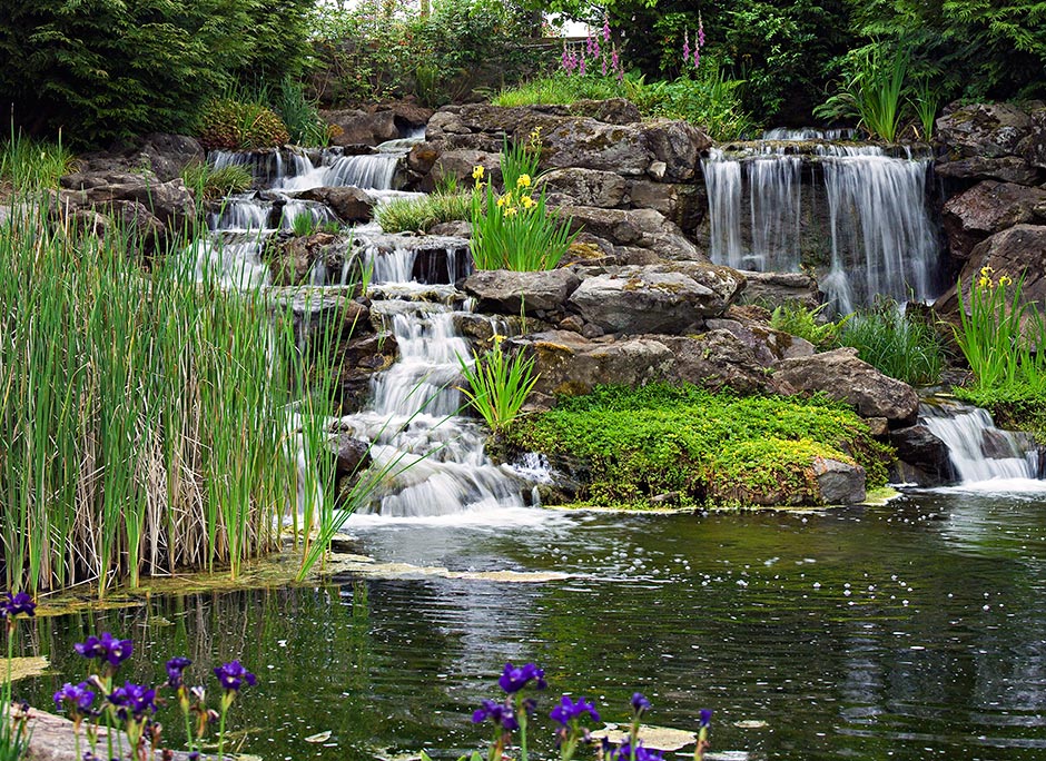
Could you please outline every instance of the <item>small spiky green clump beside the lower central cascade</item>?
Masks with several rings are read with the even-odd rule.
[[[511,358],[502,349],[504,336],[494,336],[494,348],[482,357],[473,353],[470,364],[457,357],[468,388],[461,392],[495,434],[504,434],[537,383],[534,357],[516,352]]]

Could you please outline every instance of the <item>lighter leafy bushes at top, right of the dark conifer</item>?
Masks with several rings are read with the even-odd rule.
[[[316,89],[327,102],[414,95],[441,106],[532,69],[523,45],[532,26],[530,13],[500,0],[435,0],[428,16],[403,0],[332,3],[318,31],[326,73]]]

